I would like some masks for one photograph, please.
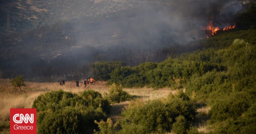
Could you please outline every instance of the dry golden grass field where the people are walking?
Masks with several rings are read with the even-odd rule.
[[[80,88],[76,88],[74,81],[66,81],[65,86],[59,86],[58,82],[25,82],[27,86],[22,87],[24,92],[21,92],[18,88],[13,88],[10,81],[10,79],[0,79],[0,130],[5,131],[5,133],[8,133],[9,131],[9,128],[6,126],[10,120],[10,108],[31,108],[33,101],[42,93],[60,89],[79,93],[84,90],[92,89],[104,95],[104,93],[107,93],[109,89],[106,82],[101,81],[97,81],[95,85],[89,85],[86,88],[84,88],[84,84],[82,82],[79,83]],[[170,92],[175,93],[175,90],[171,91],[169,88],[154,90],[153,88],[144,87],[132,89],[125,88],[123,90],[132,95],[136,95],[143,100],[158,99],[168,96]],[[114,120],[120,118],[119,114],[121,113],[122,108],[128,104],[129,101],[113,104],[112,112],[109,116]]]

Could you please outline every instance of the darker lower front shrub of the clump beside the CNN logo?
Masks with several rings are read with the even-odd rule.
[[[102,118],[104,113],[93,107],[67,107],[47,113],[37,128],[38,133],[92,133],[97,127],[93,121]]]

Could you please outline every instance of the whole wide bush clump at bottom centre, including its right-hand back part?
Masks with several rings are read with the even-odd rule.
[[[137,100],[122,111],[120,133],[168,132],[176,117],[182,115],[189,123],[194,119],[195,113],[195,105],[185,95],[172,96],[164,102]]]

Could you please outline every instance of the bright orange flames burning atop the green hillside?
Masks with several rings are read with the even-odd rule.
[[[212,21],[209,22],[208,26],[204,28],[206,31],[206,37],[209,38],[210,36],[214,36],[218,31],[228,31],[230,29],[235,29],[236,24],[233,26],[228,25],[227,27],[224,27],[223,29],[220,29],[219,27],[214,27]]]

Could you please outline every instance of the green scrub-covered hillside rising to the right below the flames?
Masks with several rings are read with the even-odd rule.
[[[181,127],[179,130],[183,133],[254,133],[255,10],[254,4],[246,12],[239,13],[237,17],[241,17],[241,21],[237,24],[241,26],[240,29],[219,32],[202,41],[202,50],[169,57],[160,63],[146,62],[135,67],[115,68],[109,73],[108,83],[120,83],[129,88],[149,86],[155,89],[169,87],[185,90],[189,98],[205,110],[201,109],[204,112],[199,113],[189,126],[183,124],[189,122],[189,117],[184,115],[185,119],[176,119]],[[254,19],[248,20],[245,14]],[[99,63],[95,65],[100,67]],[[101,74],[100,69],[95,69],[98,72],[96,74]],[[101,75],[97,76],[103,78]],[[183,100],[185,101],[184,98]],[[145,107],[147,105],[145,104]],[[126,125],[135,127],[124,127],[124,130],[141,130],[139,125],[143,123],[132,117],[129,119],[132,121],[127,121]],[[199,127],[198,131],[195,131],[194,127]],[[174,125],[173,131],[178,132],[175,129]],[[122,129],[119,132],[122,133]]]

